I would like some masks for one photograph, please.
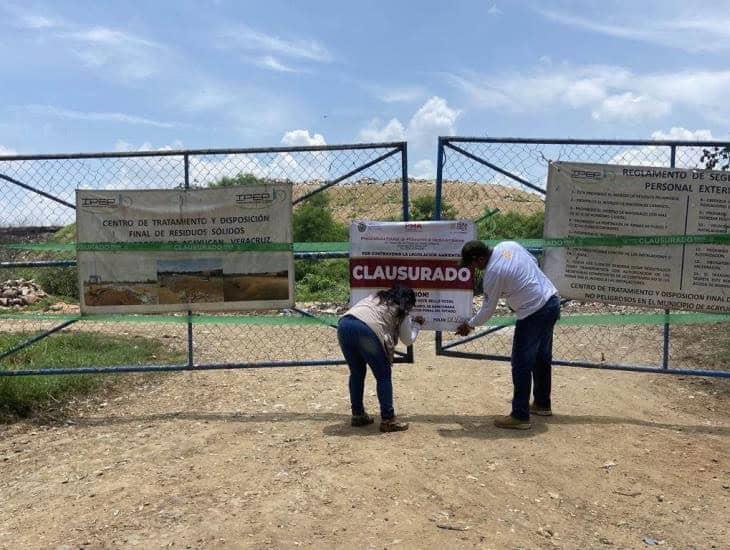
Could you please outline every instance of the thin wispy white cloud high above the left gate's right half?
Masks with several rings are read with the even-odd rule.
[[[318,63],[332,61],[332,54],[316,40],[284,39],[263,33],[247,25],[237,25],[222,31],[219,46],[236,49],[247,54],[278,55]]]

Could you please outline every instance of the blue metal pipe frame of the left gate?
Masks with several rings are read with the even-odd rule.
[[[184,189],[190,189],[190,157],[203,155],[255,155],[265,153],[303,153],[303,152],[327,152],[327,151],[355,151],[364,149],[389,149],[383,154],[371,159],[364,164],[353,168],[347,173],[334,179],[323,182],[317,189],[304,194],[297,199],[292,200],[292,206],[310,198],[311,196],[326,191],[330,187],[341,183],[348,178],[377,165],[378,163],[400,154],[401,156],[401,214],[403,221],[409,220],[409,200],[408,200],[408,144],[405,141],[383,142],[383,143],[354,143],[354,144],[337,144],[337,145],[305,145],[298,147],[256,147],[256,148],[225,148],[225,149],[177,149],[165,151],[125,151],[125,152],[101,152],[101,153],[57,153],[43,155],[5,155],[0,156],[0,161],[36,161],[36,160],[69,160],[69,159],[113,159],[113,158],[144,158],[144,157],[182,157],[184,167]],[[51,193],[39,189],[37,186],[29,185],[15,178],[0,173],[0,182],[8,183],[21,187],[26,191],[30,191],[44,197],[46,199],[57,202],[68,208],[76,209],[76,205],[71,204],[63,199],[54,196]],[[348,258],[349,252],[294,252],[294,259],[335,259]],[[42,260],[42,261],[23,261],[23,262],[0,262],[0,270],[12,268],[26,267],[74,267],[76,260]],[[1,272],[1,271],[0,271]],[[317,318],[316,315],[299,309],[296,305],[290,308],[298,314]],[[273,367],[297,367],[297,366],[331,366],[343,365],[346,361],[343,359],[310,359],[310,360],[294,360],[294,361],[260,361],[254,363],[203,363],[195,364],[194,349],[194,333],[193,333],[193,313],[187,311],[187,362],[185,364],[176,365],[117,365],[111,367],[79,367],[79,368],[63,368],[63,369],[24,369],[24,370],[0,370],[0,377],[5,376],[31,376],[31,375],[65,375],[65,374],[121,374],[130,372],[166,372],[166,371],[187,371],[187,370],[222,370],[222,369],[258,369]],[[13,348],[0,353],[0,360],[17,353],[28,346],[43,340],[53,334],[61,332],[66,327],[83,321],[80,319],[65,320],[58,325],[41,331],[39,334],[20,342]],[[331,328],[336,329],[337,326],[327,323]],[[396,351],[394,363],[413,363],[414,354],[413,346],[408,346],[405,353]]]

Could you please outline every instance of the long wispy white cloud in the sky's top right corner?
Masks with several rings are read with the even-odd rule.
[[[656,10],[662,8],[674,12],[674,18],[657,17]],[[590,18],[553,10],[538,11],[556,23],[616,38],[690,52],[730,49],[730,17],[726,15],[727,8],[723,11],[718,6],[704,10],[707,15],[700,16],[695,13],[677,14],[667,4],[651,6],[646,2],[624,5],[618,15],[592,13]]]

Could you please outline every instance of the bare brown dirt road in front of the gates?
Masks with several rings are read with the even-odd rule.
[[[345,367],[130,376],[0,427],[0,547],[728,548],[727,381],[559,367],[511,432],[507,366],[432,350],[396,366],[404,433],[347,425]]]

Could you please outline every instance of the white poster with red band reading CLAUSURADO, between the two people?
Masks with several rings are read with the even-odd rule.
[[[424,329],[454,330],[472,315],[473,277],[459,260],[475,235],[471,221],[352,222],[350,303],[400,283],[416,292]]]

